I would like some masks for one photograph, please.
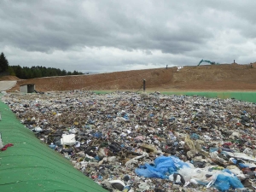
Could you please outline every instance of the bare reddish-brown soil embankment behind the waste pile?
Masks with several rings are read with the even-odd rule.
[[[18,80],[35,84],[38,91],[51,90],[140,90],[146,80],[147,90],[256,90],[256,63],[221,64],[199,67],[156,68],[94,75],[77,75]]]

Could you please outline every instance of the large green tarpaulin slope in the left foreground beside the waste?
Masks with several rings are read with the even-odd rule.
[[[0,112],[3,145],[14,144],[0,151],[0,191],[107,192],[61,154],[41,143],[3,102]]]

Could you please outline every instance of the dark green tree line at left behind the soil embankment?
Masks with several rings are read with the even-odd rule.
[[[67,72],[64,69],[61,70],[59,68],[54,67],[20,67],[20,65],[9,66],[9,61],[5,58],[4,54],[2,53],[0,55],[0,74],[14,75],[20,79],[34,79],[51,76],[79,75],[84,73],[78,71]]]

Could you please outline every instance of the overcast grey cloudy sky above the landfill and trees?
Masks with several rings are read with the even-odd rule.
[[[256,61],[255,0],[1,0],[9,65],[79,72]]]

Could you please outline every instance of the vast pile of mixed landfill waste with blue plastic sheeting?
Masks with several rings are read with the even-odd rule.
[[[85,90],[6,93],[49,148],[108,191],[254,191],[256,104]]]

